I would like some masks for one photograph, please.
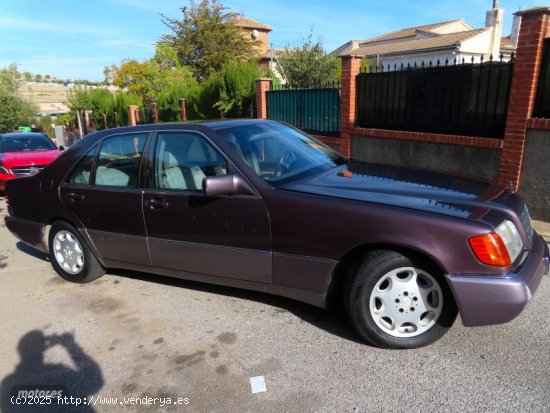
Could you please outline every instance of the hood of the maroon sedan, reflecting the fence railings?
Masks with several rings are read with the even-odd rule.
[[[475,220],[494,209],[517,210],[519,203],[519,197],[496,184],[357,161],[280,188]]]

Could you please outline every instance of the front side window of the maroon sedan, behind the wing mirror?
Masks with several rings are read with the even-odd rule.
[[[192,132],[160,133],[155,145],[155,186],[201,191],[207,176],[227,174],[227,162],[204,137]]]

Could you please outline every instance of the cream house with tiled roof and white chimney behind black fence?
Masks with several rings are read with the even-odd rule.
[[[474,28],[462,19],[409,27],[367,40],[350,40],[334,51],[338,56],[359,56],[371,64],[387,67],[432,62],[479,62],[483,57],[509,60],[517,46],[520,16],[515,16],[512,34],[502,37],[504,10],[498,0],[487,11],[485,27]]]

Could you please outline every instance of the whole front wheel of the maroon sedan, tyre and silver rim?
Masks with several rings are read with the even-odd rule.
[[[344,303],[357,332],[381,348],[432,344],[457,315],[451,291],[435,265],[389,250],[371,251],[351,269]]]

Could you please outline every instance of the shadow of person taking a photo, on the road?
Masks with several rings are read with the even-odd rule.
[[[76,368],[64,364],[44,363],[45,351],[53,346],[60,345],[70,356]],[[4,378],[1,386],[0,411],[10,412],[94,412],[93,406],[84,404],[103,387],[101,368],[76,343],[70,333],[45,336],[40,330],[33,330],[25,334],[17,346],[21,361],[15,371]],[[51,404],[17,404],[17,396],[25,395],[21,390],[62,391],[63,403],[58,403],[57,397]],[[27,394],[28,395],[28,394]],[[80,400],[82,404],[76,406],[70,403]],[[43,401],[37,398],[35,402]]]

